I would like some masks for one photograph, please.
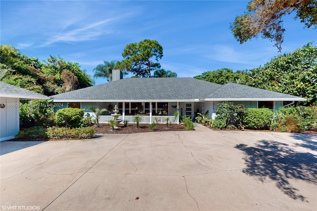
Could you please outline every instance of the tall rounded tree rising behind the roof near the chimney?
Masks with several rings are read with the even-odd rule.
[[[136,76],[151,77],[151,71],[160,68],[158,61],[163,56],[163,48],[158,41],[145,39],[139,43],[128,44],[122,56],[124,59],[117,62],[115,68],[127,70]]]

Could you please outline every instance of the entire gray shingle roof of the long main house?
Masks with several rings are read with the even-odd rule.
[[[194,78],[125,78],[53,95],[58,102],[191,101],[195,99],[287,99],[299,97],[229,83],[219,85]]]

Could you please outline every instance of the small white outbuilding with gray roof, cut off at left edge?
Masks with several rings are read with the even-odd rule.
[[[20,130],[20,100],[50,98],[20,87],[0,82],[0,141],[13,139]]]

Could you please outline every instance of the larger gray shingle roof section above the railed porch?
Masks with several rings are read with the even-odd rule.
[[[221,87],[194,78],[125,78],[51,96],[53,100],[194,100]]]

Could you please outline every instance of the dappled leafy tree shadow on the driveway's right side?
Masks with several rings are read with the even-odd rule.
[[[255,147],[238,144],[235,148],[245,154],[247,167],[243,169],[244,173],[262,182],[268,177],[276,182],[277,188],[293,199],[307,201],[290,184],[290,179],[317,184],[317,157],[311,153],[296,152],[287,144],[267,140],[258,141]]]

